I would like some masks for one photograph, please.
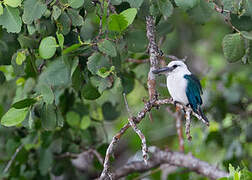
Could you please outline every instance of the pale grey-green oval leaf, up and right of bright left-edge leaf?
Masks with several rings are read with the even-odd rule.
[[[54,101],[54,94],[52,89],[45,83],[39,82],[37,90],[41,93],[42,98],[46,104],[52,104]]]

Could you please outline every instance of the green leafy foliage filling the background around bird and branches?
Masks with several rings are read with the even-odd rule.
[[[188,56],[202,77],[210,127],[194,122],[185,151],[222,169],[244,163],[251,170],[252,3],[221,2],[223,12],[206,0],[0,1],[0,179],[90,179],[101,172],[96,158],[87,163],[90,170],[62,155],[90,148],[104,155],[127,122],[123,92],[134,112],[142,108],[149,64],[127,59],[148,58],[147,15],[155,17],[162,52]],[[158,78],[158,85],[164,82]],[[158,92],[169,96],[163,86]],[[148,144],[177,149],[172,117],[161,108],[153,118],[140,125]],[[140,146],[129,132],[120,154],[128,158]],[[115,156],[115,164],[124,164]],[[242,179],[245,170],[230,172]],[[168,178],[203,179],[183,169]]]

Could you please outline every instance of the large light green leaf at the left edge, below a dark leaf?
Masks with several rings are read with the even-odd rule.
[[[10,108],[2,117],[1,124],[3,126],[15,126],[24,121],[26,115],[28,113],[28,109],[16,109]]]

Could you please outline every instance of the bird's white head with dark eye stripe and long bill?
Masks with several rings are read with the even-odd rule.
[[[188,72],[187,66],[183,61],[171,61],[167,67],[152,71],[154,74],[165,74],[166,76],[173,73]]]

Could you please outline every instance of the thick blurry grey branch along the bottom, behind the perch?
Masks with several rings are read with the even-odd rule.
[[[207,162],[201,161],[191,154],[184,154],[181,152],[162,151],[157,147],[150,147],[150,159],[148,165],[144,162],[131,162],[118,168],[112,175],[113,179],[119,179],[125,177],[134,172],[145,172],[152,168],[157,168],[162,164],[170,164],[173,166],[188,168],[203,176],[211,179],[218,179],[221,177],[227,177],[228,173],[219,170],[217,167],[208,164]]]

